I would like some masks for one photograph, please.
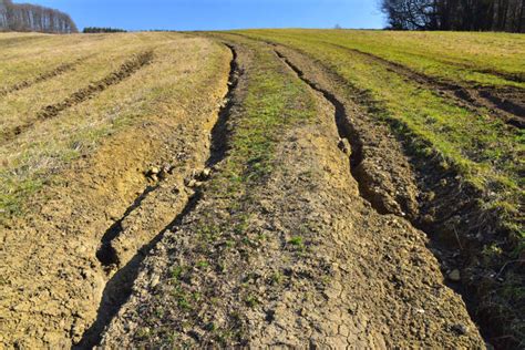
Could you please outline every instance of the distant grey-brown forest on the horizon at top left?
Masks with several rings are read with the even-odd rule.
[[[68,13],[29,3],[0,0],[0,31],[76,33]]]

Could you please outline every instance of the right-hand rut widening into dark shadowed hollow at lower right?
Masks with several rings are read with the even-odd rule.
[[[311,89],[315,91],[320,92],[334,107],[336,107],[336,120],[344,117],[348,120],[348,116],[344,115],[344,110],[341,109],[341,102],[329,91],[326,91],[322,87],[319,87],[319,84],[316,82],[312,82],[308,78],[305,78],[305,73],[294,63],[291,63],[282,53],[279,53],[276,51],[276,53],[284,60],[284,62],[292,69],[297,75],[305,81]],[[367,157],[362,155],[362,147],[363,144],[359,141],[359,135],[356,134],[356,131],[351,127],[350,125],[350,133],[346,131],[343,126],[341,127],[340,122],[336,122],[338,124],[338,131],[339,131],[339,136],[341,138],[346,138],[350,142],[352,146],[352,151],[357,150],[357,158],[354,156],[351,157],[351,167],[358,165],[360,162],[363,162]],[[348,130],[348,128],[347,128]],[[421,172],[422,169],[420,168],[421,164],[415,165],[416,171]],[[429,165],[426,165],[429,166]],[[426,169],[429,172],[429,169]],[[436,172],[436,169],[431,169],[430,172]],[[359,184],[360,188],[360,195],[367,199],[369,203],[372,204],[372,207],[380,214],[394,214],[398,215],[397,213],[384,213],[381,207],[378,207],[377,204],[373,203],[373,197],[368,196],[367,193],[367,183],[364,176],[368,176],[368,174],[356,174],[356,171],[351,168],[351,174],[356,178],[356,181]],[[434,174],[434,175],[433,175]],[[443,174],[440,174],[437,171],[437,176],[441,176]],[[425,233],[425,235],[431,239],[431,245],[429,246],[429,249],[433,253],[433,255],[440,260],[441,262],[441,268],[442,271],[444,272],[445,276],[451,276],[450,272],[453,271],[454,269],[460,270],[461,274],[464,274],[465,277],[461,277],[460,280],[457,279],[452,279],[449,277],[447,279],[447,286],[455,290],[457,294],[463,296],[463,299],[465,300],[467,305],[467,309],[471,313],[471,318],[476,320],[476,323],[478,325],[478,328],[481,329],[482,334],[486,338],[490,339],[491,341],[501,342],[501,330],[500,328],[496,328],[492,321],[493,319],[497,319],[497,317],[492,316],[492,310],[487,315],[480,313],[477,311],[478,305],[476,305],[475,300],[478,300],[480,294],[483,296],[482,288],[483,287],[481,284],[483,284],[483,280],[476,280],[475,275],[470,275],[473,271],[469,271],[469,265],[467,261],[470,259],[476,259],[476,251],[482,250],[482,246],[480,246],[480,243],[475,240],[475,233],[480,231],[490,231],[492,223],[484,223],[484,220],[493,220],[497,218],[492,218],[488,213],[480,212],[482,208],[476,207],[475,202],[471,198],[469,202],[465,202],[463,196],[465,195],[473,195],[472,193],[469,193],[471,189],[467,186],[461,186],[459,184],[459,188],[455,188],[454,186],[456,185],[454,182],[451,182],[450,185],[447,185],[446,188],[439,189],[434,188],[435,183],[439,183],[439,181],[435,181],[435,173],[430,173],[430,174],[419,174],[419,176],[424,177],[425,184],[423,184],[423,188],[432,188],[436,192],[437,196],[442,197],[442,202],[446,206],[446,208],[440,208],[439,206],[442,204],[435,204],[435,203],[430,203],[430,205],[435,206],[431,207],[431,209],[441,212],[441,210],[449,210],[450,214],[446,213],[441,213],[439,214],[439,219],[434,219],[432,222],[429,222],[426,219],[429,208],[422,207],[422,212],[418,213],[415,216],[409,215],[406,218],[409,219],[410,224],[412,227],[415,227],[422,231]],[[426,177],[432,177],[432,178],[426,178]],[[450,174],[444,174],[443,178],[451,178]],[[453,176],[452,176],[453,178]],[[421,178],[419,181],[422,181]],[[426,182],[431,182],[431,184],[428,184]],[[434,187],[431,187],[434,185]],[[437,187],[441,185],[437,185]],[[467,196],[467,199],[470,197]],[[425,200],[425,197],[420,198],[420,200]],[[428,206],[429,203],[422,203],[423,206]],[[424,209],[424,210],[423,210]],[[469,227],[467,229],[464,229],[461,225],[455,223],[454,220],[459,217],[459,215],[462,215],[464,217],[465,223],[478,223],[478,224],[471,224],[473,227]],[[455,225],[455,226],[454,226]],[[446,230],[452,230],[452,236],[454,238],[451,238],[451,235]],[[461,235],[457,234],[457,231],[461,233]],[[474,234],[472,234],[474,231]],[[455,234],[455,235],[454,235]],[[486,234],[486,233],[485,233]],[[466,268],[465,268],[466,266]],[[471,278],[470,280],[467,278]],[[485,291],[486,292],[486,291]],[[492,291],[494,292],[494,290]],[[497,308],[497,305],[494,306]]]

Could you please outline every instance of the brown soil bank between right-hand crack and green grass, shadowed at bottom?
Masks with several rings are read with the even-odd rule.
[[[502,329],[491,321],[502,317],[497,311],[497,303],[482,307],[478,302],[496,288],[501,288],[503,281],[497,280],[497,270],[486,270],[480,265],[483,247],[505,237],[505,229],[500,226],[497,213],[484,209],[481,204],[484,194],[462,183],[454,171],[442,168],[437,158],[422,158],[415,154],[406,156],[405,154],[413,154],[411,143],[404,138],[406,135],[393,137],[387,124],[374,121],[373,113],[381,106],[367,93],[360,93],[349,86],[338,75],[322,68],[320,62],[284,47],[274,44],[274,48],[277,48],[281,56],[286,53],[286,60],[308,84],[329,96],[328,100],[336,99],[332,102],[336,106],[342,104],[347,106],[347,111],[352,111],[347,114],[350,124],[348,128],[353,131],[350,135],[357,135],[348,137],[353,140],[352,150],[358,150],[361,164],[369,162],[375,165],[361,172],[352,172],[363,197],[380,213],[384,213],[384,205],[378,205],[378,199],[370,196],[370,188],[384,188],[384,185],[389,184],[388,181],[381,181],[384,178],[394,176],[398,182],[399,177],[404,178],[404,187],[395,184],[391,188],[412,194],[409,203],[413,205],[413,209],[406,212],[406,218],[414,227],[424,229],[429,235],[429,248],[439,258],[443,274],[450,276],[454,270],[460,271],[460,279],[447,278],[447,285],[462,294],[486,339],[503,348],[515,347],[515,340],[504,337]],[[399,138],[399,142],[395,138]],[[367,152],[367,148],[375,152]],[[391,163],[395,165],[392,166]],[[360,166],[358,165],[358,168]],[[400,172],[399,167],[404,172]],[[371,184],[370,178],[379,181]],[[390,193],[390,196],[383,196],[380,200],[406,203],[406,198],[395,198],[392,191],[385,192]],[[397,210],[387,213],[400,215]]]

